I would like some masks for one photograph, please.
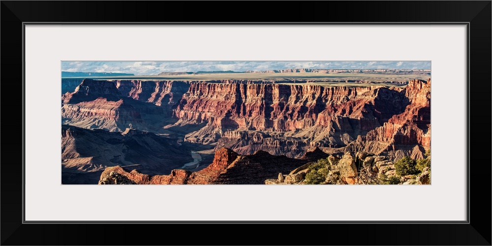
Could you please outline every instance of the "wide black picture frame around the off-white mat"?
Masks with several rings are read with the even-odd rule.
[[[278,5],[287,8],[279,8]],[[220,8],[217,8],[220,6]],[[238,8],[236,6],[241,6]],[[290,6],[290,7],[289,7]],[[224,10],[228,10],[224,13]],[[281,10],[281,11],[280,11]],[[1,1],[1,245],[491,245],[491,10],[488,1]],[[266,13],[266,14],[265,14]],[[272,14],[275,13],[273,16]],[[23,223],[25,23],[467,23],[466,223]],[[450,116],[452,120],[452,116]],[[14,138],[10,137],[14,134]],[[21,136],[22,135],[22,136]],[[453,133],[450,133],[452,139]],[[42,160],[40,160],[42,163]],[[423,203],[422,208],[430,206]],[[306,209],[313,209],[307,207]],[[110,208],[108,208],[110,211]],[[123,216],[123,215],[122,215]],[[277,235],[272,231],[282,231]],[[153,231],[162,231],[154,234]],[[224,236],[226,235],[226,236]],[[231,242],[229,238],[236,238]]]

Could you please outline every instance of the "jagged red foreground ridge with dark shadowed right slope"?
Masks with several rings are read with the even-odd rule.
[[[114,179],[110,178],[119,175],[124,177],[121,182],[134,184],[264,184],[265,180],[277,177],[279,172],[288,173],[310,161],[326,157],[328,154],[319,149],[308,152],[303,158],[294,159],[264,151],[240,155],[221,148],[215,152],[213,163],[198,172],[177,169],[172,170],[170,175],[150,176],[140,173],[138,169],[129,171],[116,166],[102,172],[99,184],[115,184]]]

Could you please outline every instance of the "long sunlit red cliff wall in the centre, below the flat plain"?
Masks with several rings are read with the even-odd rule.
[[[301,150],[288,155],[299,157],[309,147],[343,147],[407,104],[401,89],[380,86],[194,83],[173,116],[179,119],[175,125],[205,124],[186,135],[190,142],[218,141],[217,148],[240,154],[252,154],[259,146],[271,154],[289,153],[285,147],[294,145]],[[283,149],[275,152],[279,146]]]

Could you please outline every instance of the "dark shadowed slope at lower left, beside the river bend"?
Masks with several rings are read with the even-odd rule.
[[[62,125],[63,184],[97,184],[106,167],[117,165],[166,174],[191,160],[176,138],[136,129],[109,132]]]

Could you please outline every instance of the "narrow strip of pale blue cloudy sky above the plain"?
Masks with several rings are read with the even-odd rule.
[[[157,75],[161,72],[198,72],[246,70],[264,71],[289,68],[311,69],[431,69],[430,61],[410,62],[62,62],[67,72],[112,72],[135,75]]]

